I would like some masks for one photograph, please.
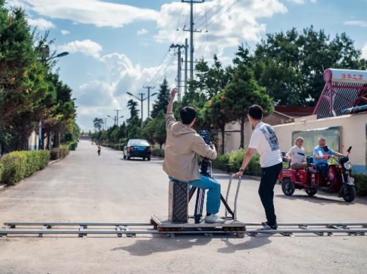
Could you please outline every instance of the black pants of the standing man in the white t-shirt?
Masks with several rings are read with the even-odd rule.
[[[283,169],[283,163],[262,168],[259,195],[262,200],[262,206],[265,209],[268,225],[270,226],[277,224],[277,216],[275,216],[274,209],[274,187],[281,173],[281,169]]]

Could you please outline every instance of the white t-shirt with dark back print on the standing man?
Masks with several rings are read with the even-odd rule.
[[[249,148],[255,148],[260,154],[261,167],[271,167],[283,161],[277,135],[269,124],[263,122],[257,124],[251,136]]]

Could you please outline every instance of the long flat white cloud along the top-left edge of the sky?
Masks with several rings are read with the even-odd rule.
[[[50,18],[68,19],[97,27],[123,27],[140,20],[157,20],[159,12],[99,0],[10,0],[27,10]]]

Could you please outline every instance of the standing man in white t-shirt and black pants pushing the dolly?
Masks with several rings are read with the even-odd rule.
[[[249,121],[255,127],[255,131],[251,136],[249,149],[244,154],[244,161],[237,177],[242,176],[244,169],[249,164],[253,152],[257,150],[260,154],[261,181],[259,187],[259,195],[262,205],[265,209],[266,219],[264,228],[260,230],[277,230],[277,216],[274,208],[274,187],[277,183],[281,169],[283,168],[283,160],[279,150],[279,142],[277,135],[272,126],[262,122],[262,107],[253,105],[249,108]]]

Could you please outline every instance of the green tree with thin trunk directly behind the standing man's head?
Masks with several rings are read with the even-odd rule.
[[[260,87],[255,80],[253,70],[244,64],[240,64],[225,89],[225,107],[227,114],[241,125],[240,148],[244,148],[244,123],[246,122],[249,107],[260,105],[264,109],[264,116],[274,111],[271,98],[266,94],[264,87]]]

